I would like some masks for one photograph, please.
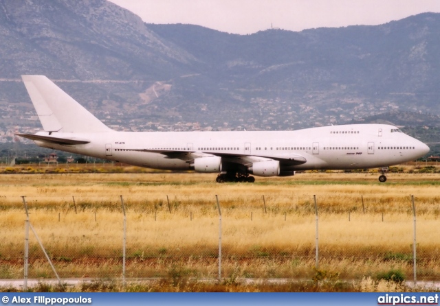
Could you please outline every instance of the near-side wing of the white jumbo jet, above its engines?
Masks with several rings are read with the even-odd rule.
[[[220,156],[223,161],[229,163],[238,163],[241,165],[251,165],[257,161],[279,161],[283,165],[302,165],[307,161],[304,156],[299,154],[280,154],[275,156],[249,155],[241,153],[223,153],[223,152],[199,152],[187,150],[162,150],[162,149],[133,149],[129,151],[152,152],[164,154],[167,158],[179,158],[183,161],[192,161],[195,158],[205,156]]]

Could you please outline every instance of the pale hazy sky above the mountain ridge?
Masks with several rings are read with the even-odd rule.
[[[440,12],[440,0],[110,0],[146,23],[189,23],[236,34],[271,27],[379,25],[421,12]]]

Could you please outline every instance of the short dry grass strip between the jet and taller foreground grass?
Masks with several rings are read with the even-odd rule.
[[[20,196],[30,204],[44,202],[55,209],[61,202],[78,201],[118,203],[119,196],[128,205],[142,201],[166,200],[181,204],[206,206],[219,195],[222,206],[261,207],[265,195],[270,209],[288,209],[308,204],[318,196],[320,209],[342,211],[365,204],[375,211],[389,210],[408,203],[410,194],[417,196],[417,206],[438,209],[440,185],[438,174],[391,174],[388,183],[377,182],[376,174],[299,174],[293,178],[259,178],[252,184],[217,184],[212,174],[34,174],[0,175],[0,204],[21,205]],[[421,182],[421,183],[420,183]],[[421,185],[422,184],[422,185]],[[410,205],[405,204],[406,207]],[[426,206],[427,205],[427,206]],[[38,205],[36,205],[38,207]],[[311,205],[313,207],[313,205]],[[426,206],[426,207],[425,207]]]

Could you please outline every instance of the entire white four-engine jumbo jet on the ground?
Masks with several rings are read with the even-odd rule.
[[[297,170],[366,169],[413,161],[426,144],[395,126],[353,124],[293,131],[117,132],[44,75],[23,75],[43,131],[18,134],[44,148],[169,170],[219,173],[217,182],[293,176]]]

